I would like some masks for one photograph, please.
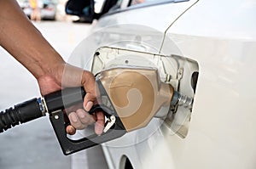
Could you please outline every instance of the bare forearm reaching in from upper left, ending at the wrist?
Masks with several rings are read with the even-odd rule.
[[[0,45],[36,78],[65,64],[15,0],[0,0]]]

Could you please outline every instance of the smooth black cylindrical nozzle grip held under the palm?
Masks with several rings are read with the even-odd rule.
[[[83,103],[85,96],[84,87],[68,87],[55,93],[44,96],[49,113],[56,110],[64,110],[74,104]]]

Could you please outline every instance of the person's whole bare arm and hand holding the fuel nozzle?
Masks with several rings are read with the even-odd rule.
[[[32,25],[15,0],[0,0],[0,45],[24,65],[37,79],[41,94],[52,93],[64,87],[83,86],[86,91],[84,109],[68,114],[69,134],[94,123],[96,134],[102,134],[104,115],[89,115],[96,100],[95,77],[90,71],[68,65]]]

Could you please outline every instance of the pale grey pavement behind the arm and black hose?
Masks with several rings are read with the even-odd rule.
[[[90,25],[69,22],[42,21],[35,25],[66,60],[90,30]],[[0,110],[39,97],[38,84],[30,72],[3,48],[0,56]],[[1,133],[0,152],[0,169],[108,168],[101,147],[63,155],[48,116]]]

